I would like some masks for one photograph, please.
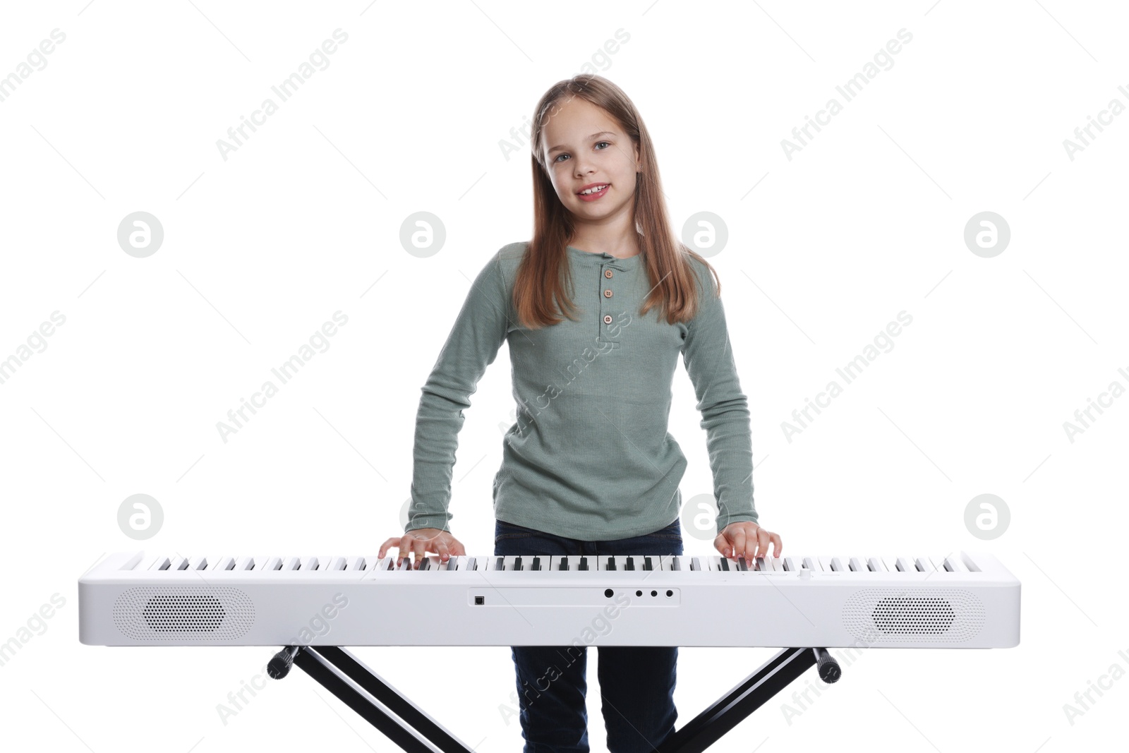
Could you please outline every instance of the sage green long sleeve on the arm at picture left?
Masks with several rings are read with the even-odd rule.
[[[422,387],[405,533],[449,529],[450,478],[463,411],[506,339],[509,300],[500,252],[482,268]]]

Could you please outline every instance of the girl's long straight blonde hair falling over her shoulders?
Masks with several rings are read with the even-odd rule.
[[[667,324],[693,318],[698,310],[698,292],[690,257],[700,261],[714,274],[720,294],[717,271],[671,230],[655,149],[634,104],[622,89],[602,76],[583,73],[551,86],[537,103],[533,119],[530,139],[533,152],[533,239],[514,280],[514,308],[518,322],[523,326],[539,329],[561,322],[559,313],[574,318],[575,306],[566,292],[566,287],[571,287],[566,246],[572,237],[572,217],[557,196],[549,178],[549,167],[542,161],[544,128],[549,119],[557,114],[558,103],[572,97],[581,97],[601,107],[639,149],[641,167],[634,190],[634,224],[641,231],[639,245],[653,286],[640,314],[657,306],[665,314]],[[554,300],[560,306],[559,312]]]

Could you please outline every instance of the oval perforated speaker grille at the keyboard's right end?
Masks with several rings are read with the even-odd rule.
[[[864,645],[961,643],[980,634],[984,607],[962,588],[860,588],[843,604],[842,618]]]

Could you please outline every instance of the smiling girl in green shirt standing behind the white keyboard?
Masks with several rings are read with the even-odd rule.
[[[502,247],[467,294],[423,386],[410,520],[397,548],[465,555],[449,531],[452,466],[470,395],[509,344],[517,421],[495,475],[495,554],[682,554],[667,432],[679,356],[706,429],[717,537],[728,558],[774,557],[780,536],[753,506],[749,401],[741,392],[720,283],[671,230],[658,164],[631,100],[599,76],[537,104],[534,233]],[[711,278],[712,274],[712,278]],[[610,751],[651,751],[674,732],[677,647],[598,650]],[[525,753],[588,751],[586,648],[511,647]]]

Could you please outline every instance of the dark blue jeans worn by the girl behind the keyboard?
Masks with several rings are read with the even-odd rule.
[[[679,520],[641,536],[578,541],[495,520],[495,555],[682,554]],[[595,569],[595,563],[589,564]],[[588,753],[587,647],[511,646],[524,753]],[[610,753],[650,753],[674,733],[679,647],[597,646]],[[546,688],[548,685],[548,688]]]

